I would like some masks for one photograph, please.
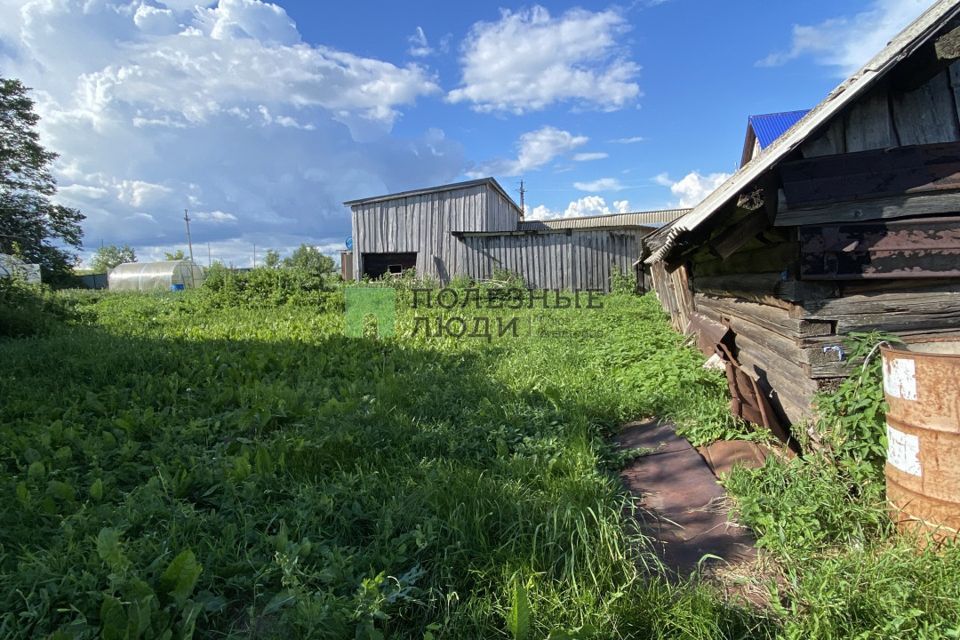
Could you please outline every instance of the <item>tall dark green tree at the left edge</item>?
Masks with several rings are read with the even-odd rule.
[[[33,100],[19,80],[0,78],[0,252],[49,275],[67,275],[81,246],[84,216],[53,202],[57,154],[40,144]]]

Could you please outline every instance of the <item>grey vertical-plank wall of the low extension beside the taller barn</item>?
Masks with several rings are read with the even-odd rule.
[[[507,269],[535,289],[609,291],[614,269],[633,271],[644,234],[643,229],[571,229],[466,235],[464,273],[487,280],[495,269]]]

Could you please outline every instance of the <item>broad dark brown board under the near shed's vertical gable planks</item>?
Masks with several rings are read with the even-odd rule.
[[[960,143],[859,151],[785,162],[780,210],[960,189]]]

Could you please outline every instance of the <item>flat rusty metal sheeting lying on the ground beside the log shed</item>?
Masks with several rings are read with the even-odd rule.
[[[731,522],[723,487],[704,457],[677,436],[672,425],[630,423],[623,426],[617,443],[652,451],[621,476],[638,498],[641,529],[654,539],[655,551],[675,578],[686,579],[698,570],[727,572],[756,561],[752,533]],[[725,466],[738,455],[751,455],[744,451],[741,447],[739,454],[731,449],[708,457],[714,463],[722,459]]]

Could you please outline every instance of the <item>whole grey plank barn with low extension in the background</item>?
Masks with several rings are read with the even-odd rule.
[[[457,276],[488,280],[503,269],[531,288],[569,290],[608,290],[614,270],[634,268],[642,238],[686,212],[524,220],[493,178],[345,204],[353,252],[341,254],[341,264],[351,265],[356,280],[416,269],[447,284]]]

